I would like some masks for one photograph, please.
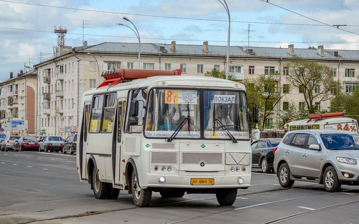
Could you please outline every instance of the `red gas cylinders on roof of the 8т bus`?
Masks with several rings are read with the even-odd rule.
[[[181,69],[176,70],[146,70],[146,69],[116,69],[110,70],[106,72],[102,72],[102,77],[105,78],[103,83],[99,85],[97,88],[103,86],[113,86],[118,83],[122,83],[123,79],[140,79],[140,78],[148,78],[152,76],[181,76]]]

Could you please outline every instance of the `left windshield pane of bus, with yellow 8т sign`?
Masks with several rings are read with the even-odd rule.
[[[175,131],[178,131],[176,138],[200,137],[198,90],[153,89],[149,94],[145,123],[147,137],[168,138]]]

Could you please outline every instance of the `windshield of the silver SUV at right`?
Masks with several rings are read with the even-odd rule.
[[[358,134],[321,134],[321,138],[328,149],[359,149]]]

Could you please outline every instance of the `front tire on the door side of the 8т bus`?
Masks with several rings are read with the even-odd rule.
[[[132,171],[131,190],[132,198],[137,207],[146,207],[150,204],[152,191],[150,189],[141,188],[139,186],[139,183],[137,183],[135,170]]]

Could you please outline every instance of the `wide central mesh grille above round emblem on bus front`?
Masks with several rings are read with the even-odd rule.
[[[182,152],[181,164],[222,164],[223,153],[214,152]]]

